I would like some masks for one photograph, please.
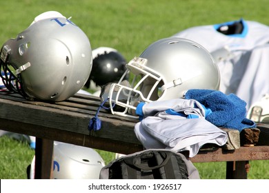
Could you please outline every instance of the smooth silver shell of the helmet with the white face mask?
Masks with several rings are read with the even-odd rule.
[[[194,41],[177,37],[161,39],[148,46],[140,57],[148,60],[148,68],[159,72],[163,85],[181,81],[181,84],[163,90],[159,97],[152,98],[178,99],[190,89],[219,89],[220,74],[217,64],[210,53]],[[150,88],[153,83],[144,82],[142,93],[148,92],[144,89]]]

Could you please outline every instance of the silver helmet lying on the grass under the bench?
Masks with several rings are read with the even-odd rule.
[[[30,179],[34,179],[34,163],[35,157],[28,171]],[[105,166],[103,159],[92,148],[54,142],[54,179],[99,179],[103,166]]]

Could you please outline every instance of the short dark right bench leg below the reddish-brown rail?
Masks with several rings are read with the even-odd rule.
[[[226,179],[248,179],[248,161],[227,161]]]

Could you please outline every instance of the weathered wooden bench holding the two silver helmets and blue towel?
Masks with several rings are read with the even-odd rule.
[[[0,92],[0,129],[36,136],[36,179],[50,179],[53,141],[130,154],[143,150],[133,132],[137,120],[114,116],[101,110],[102,128],[89,131],[88,123],[97,112],[99,98],[76,94],[66,101],[28,101],[18,94]],[[192,162],[226,161],[227,179],[246,179],[248,161],[268,160],[269,146],[237,150],[213,148],[200,151]]]

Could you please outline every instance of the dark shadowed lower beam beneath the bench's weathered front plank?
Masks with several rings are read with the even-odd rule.
[[[36,125],[29,123],[19,123],[17,121],[10,121],[8,119],[0,119],[0,121],[1,130],[8,130],[10,132],[37,136],[38,138],[42,139],[72,143],[74,145],[81,145],[89,148],[105,150],[108,152],[118,152],[122,154],[130,154],[143,150],[143,146],[136,138],[132,141],[119,141],[113,140],[113,137],[106,139],[103,138],[102,135],[98,136],[97,134],[79,134],[77,132],[68,132],[66,130],[46,128],[44,126],[37,127]]]

